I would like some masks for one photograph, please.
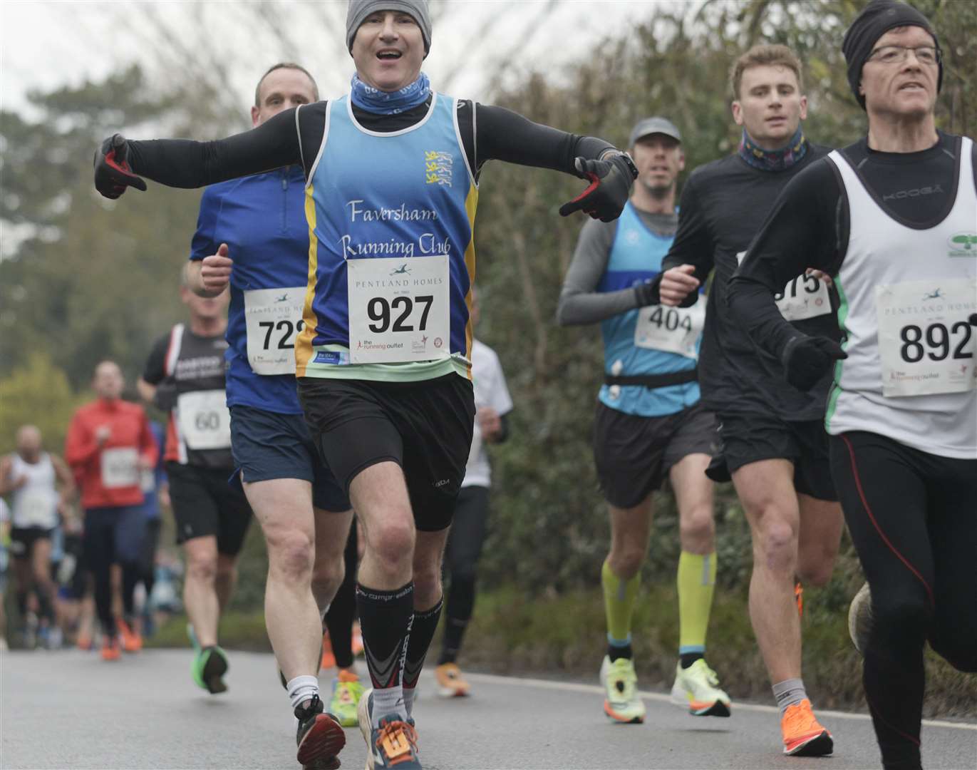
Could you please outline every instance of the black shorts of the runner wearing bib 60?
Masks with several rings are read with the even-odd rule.
[[[214,535],[218,553],[240,553],[251,523],[251,507],[240,485],[230,483],[232,472],[232,468],[166,463],[178,543]]]

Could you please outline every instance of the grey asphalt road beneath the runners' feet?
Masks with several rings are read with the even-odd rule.
[[[230,691],[191,683],[190,653],[149,650],[103,663],[96,653],[0,655],[0,768],[281,768],[296,770],[295,720],[270,655],[232,653]],[[596,673],[594,679],[596,681]],[[470,677],[473,696],[443,700],[425,674],[414,717],[425,770],[475,768],[878,768],[865,715],[819,711],[829,758],[786,757],[777,712],[734,703],[728,719],[693,717],[643,693],[643,725],[612,724],[596,685]],[[327,688],[326,676],[323,685]],[[359,768],[360,731],[340,757]],[[974,770],[977,724],[927,722],[927,770]]]

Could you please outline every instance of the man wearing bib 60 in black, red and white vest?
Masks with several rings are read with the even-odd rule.
[[[251,510],[243,492],[228,484],[234,473],[224,392],[228,294],[198,297],[185,267],[180,299],[190,324],[178,323],[156,341],[138,387],[144,400],[169,413],[164,457],[177,543],[187,563],[183,599],[191,622],[191,674],[197,687],[216,694],[228,689],[217,629],[234,592]]]

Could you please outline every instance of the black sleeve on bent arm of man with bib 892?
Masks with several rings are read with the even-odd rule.
[[[808,268],[835,276],[847,247],[847,201],[831,161],[819,160],[787,183],[750,243],[727,298],[764,350],[781,357],[800,332],[781,315],[774,294]]]

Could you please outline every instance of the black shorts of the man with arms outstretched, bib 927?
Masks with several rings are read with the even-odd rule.
[[[446,374],[420,382],[300,377],[299,399],[323,461],[343,490],[365,468],[404,470],[414,524],[451,524],[472,446],[475,395],[470,380]]]

